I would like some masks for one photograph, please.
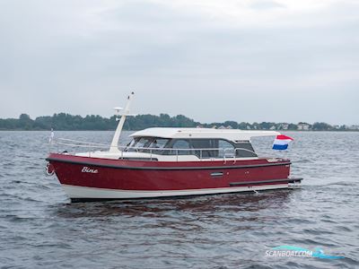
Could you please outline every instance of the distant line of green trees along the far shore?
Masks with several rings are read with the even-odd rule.
[[[53,116],[43,116],[31,119],[27,114],[20,115],[19,118],[0,119],[0,130],[114,130],[117,126],[116,117],[101,116],[73,116],[66,113],[58,113]],[[302,129],[303,126],[306,128]],[[326,123],[306,123],[287,124],[287,123],[248,123],[235,121],[225,121],[223,123],[201,124],[191,118],[183,115],[171,117],[168,114],[154,115],[137,115],[136,117],[127,117],[124,129],[142,130],[148,127],[215,127],[227,129],[243,130],[314,130],[314,131],[331,131],[347,130],[346,126],[330,126]]]

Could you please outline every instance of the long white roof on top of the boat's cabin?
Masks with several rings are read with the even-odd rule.
[[[250,140],[251,137],[274,136],[276,131],[244,131],[239,129],[224,130],[212,128],[147,128],[131,134],[131,137],[151,136],[162,138],[223,138],[230,141]]]

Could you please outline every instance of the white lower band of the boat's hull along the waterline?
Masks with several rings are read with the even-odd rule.
[[[166,191],[137,191],[121,190],[97,187],[79,187],[63,184],[66,194],[70,198],[78,199],[131,199],[131,198],[150,198],[165,196],[185,196],[185,195],[212,195],[225,194],[246,191],[258,191],[276,188],[288,188],[288,184],[262,185],[250,187],[218,187],[204,189],[187,189],[187,190],[166,190]]]

